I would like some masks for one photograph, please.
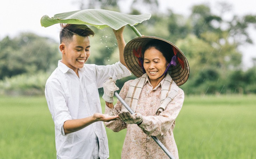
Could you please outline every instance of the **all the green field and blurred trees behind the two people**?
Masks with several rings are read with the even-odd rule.
[[[120,0],[81,0],[78,9],[120,11]],[[212,12],[206,4],[191,6],[190,15],[159,10],[158,0],[134,0],[129,14],[149,10],[150,20],[138,24],[142,35],[167,39],[186,55],[190,77],[176,120],[175,139],[181,159],[256,158],[256,59],[244,69],[241,46],[252,44],[249,29],[256,15],[231,15],[231,5],[218,3]],[[159,14],[161,13],[161,14]],[[112,64],[119,60],[111,28],[90,38],[87,63]],[[126,42],[135,38],[126,27]],[[54,123],[44,94],[45,83],[57,67],[59,42],[30,32],[0,39],[0,158],[56,158]],[[133,75],[117,81],[123,83]],[[102,89],[99,89],[102,93]],[[36,96],[39,95],[39,96]],[[246,96],[245,96],[246,95]],[[107,129],[110,159],[120,158],[126,130]]]

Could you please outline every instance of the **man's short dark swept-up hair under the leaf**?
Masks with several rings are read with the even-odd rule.
[[[92,29],[84,24],[60,24],[60,43],[65,41],[69,43],[73,39],[73,35],[79,35],[82,37],[94,36]]]

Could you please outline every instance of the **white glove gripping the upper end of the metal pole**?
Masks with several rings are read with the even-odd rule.
[[[114,102],[114,99],[113,99],[114,92],[119,90],[119,88],[115,85],[115,83],[116,81],[111,77],[105,83],[103,83],[104,94],[102,98],[108,103]]]

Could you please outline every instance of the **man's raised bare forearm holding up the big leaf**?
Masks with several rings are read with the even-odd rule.
[[[126,66],[126,63],[124,62],[124,58],[123,58],[123,50],[124,47],[126,45],[124,38],[123,38],[123,30],[124,30],[124,26],[118,30],[113,29],[113,32],[115,34],[116,37],[116,41],[117,41],[117,45],[118,45],[118,49],[119,49],[119,61]]]

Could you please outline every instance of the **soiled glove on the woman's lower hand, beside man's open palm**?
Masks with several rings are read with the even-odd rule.
[[[118,114],[120,119],[128,124],[139,124],[143,121],[142,115],[140,113],[131,114],[130,112],[120,112]]]

